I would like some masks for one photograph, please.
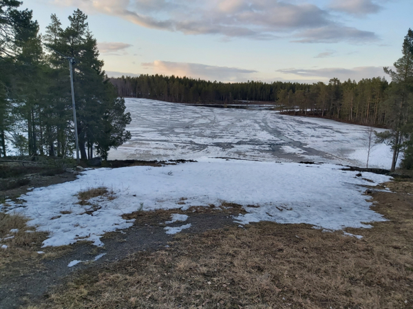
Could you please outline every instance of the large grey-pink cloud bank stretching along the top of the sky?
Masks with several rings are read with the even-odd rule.
[[[310,42],[324,28],[346,28],[330,11],[303,1],[282,0],[51,0],[60,6],[77,6],[88,14],[116,16],[145,28],[210,34],[224,39],[247,38],[270,40],[289,37],[297,32],[313,34]],[[354,0],[350,0],[354,1]],[[361,1],[361,0],[359,0]],[[333,3],[334,4],[334,3]],[[338,10],[338,9],[337,9]],[[354,40],[362,30],[346,32],[344,41]],[[318,32],[317,32],[318,30]],[[313,31],[313,32],[312,32]],[[368,32],[372,34],[372,32]],[[374,34],[373,34],[374,35]],[[306,36],[301,42],[308,43]],[[343,41],[337,36],[335,41]],[[332,40],[329,40],[332,41]],[[359,40],[361,42],[361,40]],[[370,42],[367,40],[367,42]]]

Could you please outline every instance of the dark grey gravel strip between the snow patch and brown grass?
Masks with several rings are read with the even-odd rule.
[[[79,270],[100,268],[106,264],[125,259],[128,255],[139,251],[158,251],[173,241],[174,235],[165,233],[165,226],[191,224],[181,233],[203,233],[210,229],[234,226],[231,215],[241,211],[240,205],[226,205],[225,209],[211,206],[191,208],[183,212],[179,209],[171,211],[137,212],[125,215],[125,218],[136,219],[134,226],[118,232],[107,233],[103,238],[104,247],[96,247],[88,242],[77,243],[65,248],[62,255],[54,254],[56,248],[42,248],[45,259],[28,260],[8,265],[10,270],[0,277],[0,308],[18,308],[25,301],[34,301],[47,295],[54,286],[63,284],[67,277]],[[186,222],[165,224],[172,213],[189,215]],[[38,249],[40,250],[40,249]],[[59,248],[57,249],[59,250]],[[97,255],[103,257],[94,261]],[[50,255],[50,258],[47,257]],[[68,264],[74,260],[85,261],[70,268]],[[45,294],[46,293],[46,294]]]

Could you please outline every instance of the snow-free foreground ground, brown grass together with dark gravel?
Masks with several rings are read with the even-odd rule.
[[[179,211],[137,212],[104,248],[41,249],[45,235],[13,219],[0,229],[20,227],[0,251],[0,308],[413,308],[413,183],[386,186],[395,193],[372,198],[389,221],[346,230],[362,239],[306,224],[240,228],[231,215],[242,209],[226,204],[191,209],[175,237],[163,222]]]

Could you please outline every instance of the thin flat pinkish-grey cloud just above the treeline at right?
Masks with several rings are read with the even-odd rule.
[[[290,68],[277,70],[276,72],[293,74],[304,78],[323,78],[324,80],[337,77],[341,81],[347,81],[348,78],[350,78],[350,80],[360,81],[363,78],[385,76],[383,67],[353,67],[352,69],[346,69],[343,67],[328,67],[314,70]]]

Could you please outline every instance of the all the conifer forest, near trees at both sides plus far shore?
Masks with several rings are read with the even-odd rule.
[[[8,142],[21,155],[69,158],[74,153],[74,122],[68,59],[74,58],[74,98],[81,158],[131,138],[131,116],[124,97],[174,103],[271,102],[286,114],[319,116],[384,127],[377,138],[392,146],[392,169],[400,153],[403,167],[413,168],[413,31],[402,43],[401,58],[383,76],[359,82],[332,78],[313,84],[275,81],[222,83],[178,76],[145,75],[109,78],[99,59],[87,16],[76,10],[67,28],[52,14],[45,34],[20,10],[21,2],[0,0],[0,156]],[[24,134],[23,134],[24,133]]]

